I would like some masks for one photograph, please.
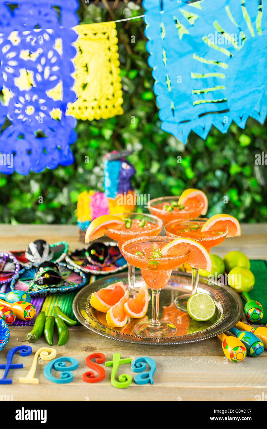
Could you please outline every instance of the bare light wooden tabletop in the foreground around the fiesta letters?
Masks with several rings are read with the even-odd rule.
[[[0,354],[0,363],[5,363],[6,353],[11,347],[23,344],[28,332],[27,327],[12,327],[11,339]],[[221,401],[255,400],[255,395],[267,391],[267,351],[258,359],[246,358],[242,363],[234,364],[224,358],[219,339],[212,338],[198,343],[179,346],[154,347],[112,341],[88,331],[84,327],[70,329],[70,341],[63,347],[55,345],[57,356],[72,356],[79,362],[70,384],[53,384],[46,380],[43,369],[46,362],[37,366],[38,385],[18,383],[30,369],[33,354],[14,356],[13,363],[23,363],[23,369],[10,370],[12,385],[0,385],[0,395],[13,395],[14,401]],[[56,335],[55,335],[56,336]],[[33,353],[45,346],[40,338],[31,344]],[[106,360],[112,359],[112,353],[120,352],[122,357],[150,356],[156,361],[154,385],[138,387],[134,381],[127,389],[111,386],[111,368],[106,368],[106,378],[99,384],[89,385],[82,381],[87,371],[85,358],[88,354],[101,351]],[[134,376],[130,365],[120,366],[120,374]]]

